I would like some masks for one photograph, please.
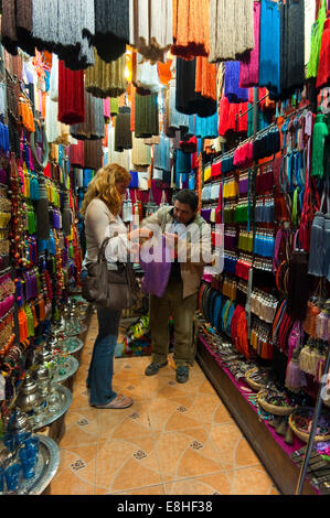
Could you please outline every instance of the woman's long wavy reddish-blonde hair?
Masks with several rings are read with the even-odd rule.
[[[108,206],[109,211],[117,216],[121,211],[121,196],[117,191],[118,182],[130,182],[129,172],[118,164],[107,164],[97,171],[88,185],[87,192],[81,208],[81,214],[85,217],[87,207],[92,199],[99,198]]]

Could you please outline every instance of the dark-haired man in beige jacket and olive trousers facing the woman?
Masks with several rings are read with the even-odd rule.
[[[193,191],[183,190],[174,196],[174,206],[159,208],[143,220],[142,226],[156,226],[166,236],[166,247],[172,251],[171,271],[162,296],[150,295],[150,334],[152,361],[146,376],[156,375],[168,364],[170,344],[169,320],[174,326],[175,379],[189,379],[193,365],[193,319],[198,291],[204,266],[212,261],[211,227],[198,214],[199,198]]]

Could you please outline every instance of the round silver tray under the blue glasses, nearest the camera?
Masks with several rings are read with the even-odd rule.
[[[60,465],[60,449],[55,441],[41,434],[36,434],[40,440],[39,456],[33,478],[22,478],[17,495],[40,495],[54,478]],[[6,492],[3,493],[6,495]]]

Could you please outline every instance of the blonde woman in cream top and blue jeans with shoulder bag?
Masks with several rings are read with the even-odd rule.
[[[120,212],[130,174],[118,164],[100,169],[88,185],[81,213],[85,219],[87,251],[84,262],[97,260],[105,237],[110,237],[106,248],[108,268],[117,268],[116,261],[125,261],[131,240],[140,230],[127,234]],[[143,235],[147,236],[146,231]],[[150,236],[150,234],[148,234]],[[141,244],[141,240],[140,240]],[[120,409],[132,404],[132,399],[113,389],[114,355],[117,345],[120,310],[97,310],[98,335],[87,376],[89,404],[97,408]]]

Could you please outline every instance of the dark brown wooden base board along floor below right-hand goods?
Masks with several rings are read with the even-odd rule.
[[[288,445],[284,438],[260,419],[257,408],[248,400],[248,396],[253,393],[251,387],[242,378],[234,378],[201,335],[196,359],[280,493],[295,495],[299,468],[290,458],[290,454],[305,443],[294,435],[294,444]],[[302,495],[318,494],[319,490],[306,479]]]

